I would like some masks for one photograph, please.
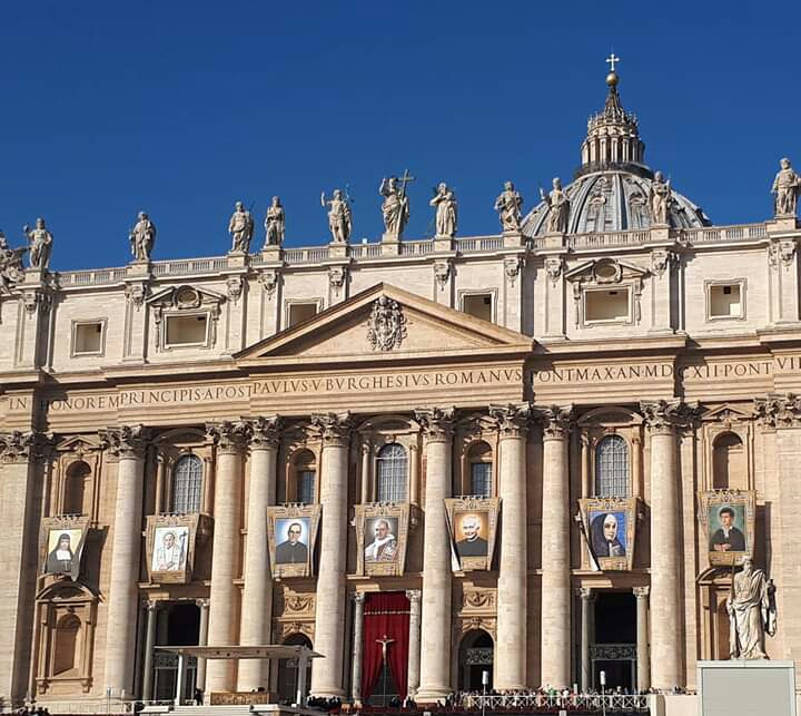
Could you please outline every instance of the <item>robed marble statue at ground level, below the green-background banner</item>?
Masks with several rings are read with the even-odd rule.
[[[732,659],[767,659],[764,635],[775,634],[773,582],[761,569],[754,569],[750,557],[742,571],[734,575],[726,600],[729,611],[729,651]]]

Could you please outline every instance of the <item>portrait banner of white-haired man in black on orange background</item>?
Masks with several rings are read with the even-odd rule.
[[[498,498],[445,500],[454,571],[492,569],[500,509]]]

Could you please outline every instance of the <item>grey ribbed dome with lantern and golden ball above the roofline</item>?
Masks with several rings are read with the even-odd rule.
[[[610,81],[612,75],[614,81]],[[587,121],[582,165],[564,189],[570,199],[568,234],[647,229],[652,224],[649,195],[654,173],[645,164],[637,118],[623,109],[617,92],[620,78],[616,72],[612,75],[606,78],[609,94],[603,110]],[[523,234],[545,234],[548,212],[545,202],[537,204],[523,219]],[[711,224],[698,205],[672,189],[668,219],[674,228]]]

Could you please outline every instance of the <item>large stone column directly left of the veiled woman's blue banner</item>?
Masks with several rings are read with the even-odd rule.
[[[572,406],[538,409],[537,413],[543,426],[541,683],[564,688],[571,683],[567,437]]]

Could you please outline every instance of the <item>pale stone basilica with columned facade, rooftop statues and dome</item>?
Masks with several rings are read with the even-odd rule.
[[[284,247],[277,198],[256,252],[240,205],[211,258],[151,259],[147,215],[118,268],[50,268],[44,222],[29,267],[2,243],[3,706],[171,698],[178,645],[306,645],[312,694],[363,703],[801,659],[801,183],[713,225],[617,84],[573,180],[525,215],[507,184],[497,235],[443,184],[404,238],[404,176],[375,243],[342,193],[327,245]],[[744,655],[748,558],[778,620]],[[296,671],[184,683],[285,698]]]

